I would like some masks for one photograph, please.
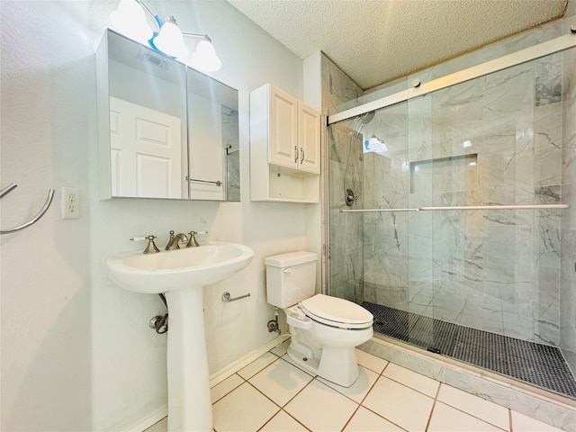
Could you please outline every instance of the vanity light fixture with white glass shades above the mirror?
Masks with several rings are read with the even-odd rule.
[[[146,14],[154,19],[157,31],[153,31],[148,25]],[[121,0],[118,9],[110,14],[110,21],[117,31],[130,39],[148,43],[153,49],[202,72],[215,72],[222,66],[207,34],[183,33],[174,16],[164,22],[141,0]],[[201,39],[193,54],[190,54],[184,44],[184,36]]]

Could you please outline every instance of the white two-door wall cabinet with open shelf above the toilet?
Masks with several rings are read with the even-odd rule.
[[[271,84],[250,93],[250,199],[319,202],[320,113]]]

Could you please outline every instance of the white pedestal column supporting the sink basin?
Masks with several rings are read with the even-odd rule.
[[[211,431],[212,404],[204,333],[204,287],[166,293],[168,432]]]

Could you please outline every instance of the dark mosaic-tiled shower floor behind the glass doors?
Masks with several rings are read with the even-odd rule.
[[[576,380],[556,347],[371,302],[362,306],[374,315],[374,333],[576,399]]]

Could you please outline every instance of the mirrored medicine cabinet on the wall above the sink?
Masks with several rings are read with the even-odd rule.
[[[111,30],[96,73],[102,199],[240,200],[237,90]]]

